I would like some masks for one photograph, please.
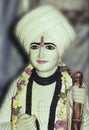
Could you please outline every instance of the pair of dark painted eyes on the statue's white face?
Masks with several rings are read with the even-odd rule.
[[[30,48],[33,49],[33,50],[36,50],[36,49],[40,48],[40,45],[38,45],[38,44],[31,44]],[[45,44],[45,48],[48,49],[48,50],[54,50],[56,48],[56,46],[54,46],[54,45],[52,45],[50,43],[50,44]]]

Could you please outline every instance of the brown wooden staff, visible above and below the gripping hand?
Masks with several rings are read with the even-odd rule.
[[[83,83],[83,74],[76,72],[73,75],[73,85],[81,88]],[[82,104],[73,102],[73,115],[71,130],[80,130],[82,121]]]

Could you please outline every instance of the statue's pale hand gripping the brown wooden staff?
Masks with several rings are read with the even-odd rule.
[[[79,88],[78,86],[73,86],[73,100],[74,102],[84,104],[86,97],[85,88]]]

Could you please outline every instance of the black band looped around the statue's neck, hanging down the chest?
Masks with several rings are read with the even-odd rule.
[[[35,80],[38,84],[45,85],[51,84],[54,81],[56,81],[56,86],[55,86],[55,91],[53,95],[53,100],[50,106],[50,113],[49,113],[49,122],[48,122],[48,130],[53,130],[54,129],[54,120],[55,120],[55,111],[56,111],[56,106],[58,102],[58,95],[60,94],[60,89],[61,89],[61,73],[60,73],[60,68],[56,70],[56,72],[47,78],[41,78],[39,77],[33,70],[33,73],[31,75],[31,78],[28,82],[27,85],[27,101],[26,101],[26,113],[31,115],[31,106],[32,106],[32,81]],[[40,130],[40,125],[39,122],[36,120],[36,125],[37,125],[37,130]]]

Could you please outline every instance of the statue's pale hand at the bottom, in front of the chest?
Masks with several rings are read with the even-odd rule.
[[[35,116],[23,114],[19,117],[17,130],[35,130]]]

